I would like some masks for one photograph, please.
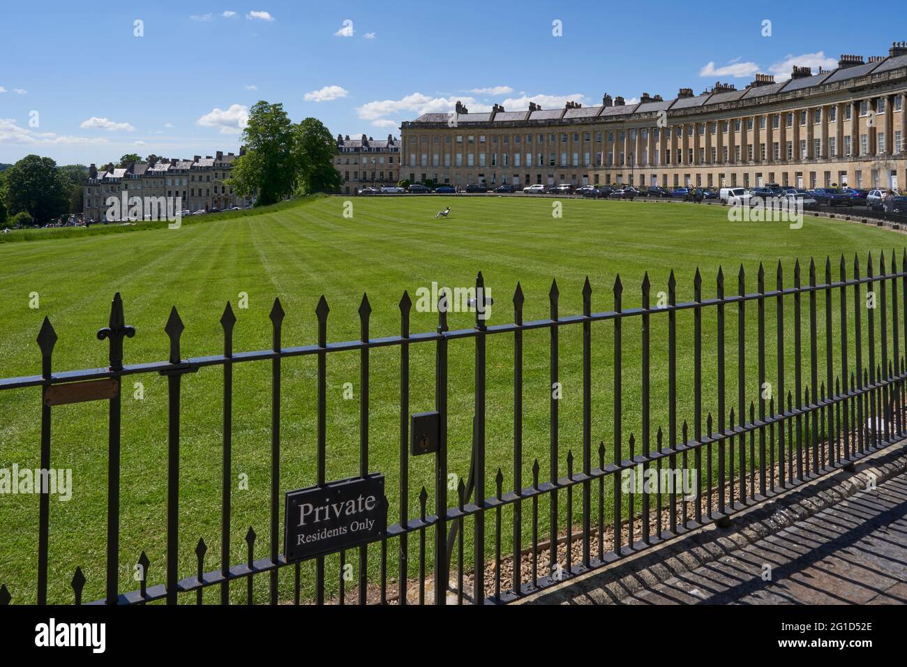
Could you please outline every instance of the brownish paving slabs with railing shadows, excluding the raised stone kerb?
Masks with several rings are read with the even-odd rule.
[[[907,474],[623,602],[907,604]]]

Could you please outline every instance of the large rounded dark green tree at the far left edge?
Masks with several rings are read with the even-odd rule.
[[[44,224],[69,209],[70,183],[50,158],[26,155],[4,177],[6,207],[14,215],[26,211]]]

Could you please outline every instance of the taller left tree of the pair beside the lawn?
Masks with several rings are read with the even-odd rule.
[[[257,206],[273,204],[293,193],[297,182],[296,132],[283,104],[255,103],[242,131],[246,154],[234,162],[227,184],[240,197],[257,193]]]

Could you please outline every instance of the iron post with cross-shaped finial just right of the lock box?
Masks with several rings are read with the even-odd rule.
[[[475,294],[484,298],[482,271],[475,278]],[[475,505],[473,515],[473,603],[485,601],[485,321],[479,309],[475,312]],[[555,478],[554,481],[557,481]],[[556,525],[556,522],[555,522]],[[556,528],[555,528],[556,530]]]

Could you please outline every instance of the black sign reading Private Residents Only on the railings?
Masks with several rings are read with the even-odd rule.
[[[387,532],[385,476],[377,473],[288,491],[285,507],[288,561],[349,549]]]

